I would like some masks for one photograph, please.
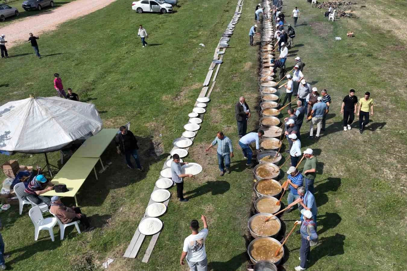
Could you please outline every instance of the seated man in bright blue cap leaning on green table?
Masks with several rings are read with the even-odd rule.
[[[47,187],[48,186],[48,187]],[[39,174],[33,178],[31,182],[28,183],[27,188],[24,190],[24,195],[27,199],[30,199],[31,202],[39,205],[43,202],[48,205],[48,208],[51,206],[51,200],[49,197],[42,196],[48,191],[54,189],[54,184],[45,178],[44,175]]]

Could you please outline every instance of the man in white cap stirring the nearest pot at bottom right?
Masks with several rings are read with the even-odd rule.
[[[311,245],[316,245],[318,240],[317,226],[314,221],[312,212],[310,210],[302,209],[304,221],[295,221],[295,224],[300,226],[301,233],[301,246],[300,246],[300,265],[295,267],[295,271],[302,271],[306,269],[306,263],[310,262]],[[315,242],[315,243],[314,243]]]

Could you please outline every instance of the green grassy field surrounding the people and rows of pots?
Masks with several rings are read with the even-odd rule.
[[[122,258],[172,141],[184,131],[182,126],[236,2],[181,0],[173,14],[139,15],[131,11],[128,1],[118,0],[42,35],[42,59],[35,57],[29,45],[9,50],[14,57],[7,59],[2,76],[2,103],[27,98],[32,92],[54,95],[53,74],[58,72],[65,88],[71,87],[81,100],[96,105],[106,127],[131,121],[131,130],[140,137],[142,164],[147,169],[142,174],[127,169],[123,157],[110,146],[102,158],[111,160],[112,166],[98,181],[90,175],[78,195],[83,212],[97,228],[84,234],[68,231],[62,242],[51,242],[45,232],[39,241],[33,240],[28,207],[22,216],[17,206],[0,213],[6,251],[13,254],[9,265],[14,270],[37,270],[38,266],[48,270],[96,270],[107,257],[115,259],[112,270],[186,270],[179,266],[182,242],[189,234],[189,221],[201,214],[208,217],[210,269],[247,268],[252,175],[244,167],[237,144],[233,106],[243,94],[252,111],[259,103],[258,47],[247,45],[257,3],[253,0],[243,4],[242,18],[226,50],[208,113],[186,158],[204,167],[203,173],[186,180],[184,191],[190,201],[179,203],[175,189],[171,189],[173,197],[161,217],[165,228],[150,262],[141,263],[143,254],[136,260]],[[406,186],[401,182],[407,158],[407,127],[402,120],[407,109],[402,76],[406,70],[389,65],[407,60],[406,44],[397,31],[385,30],[368,16],[372,4],[383,3],[366,1],[368,7],[361,9],[359,19],[335,23],[328,23],[304,0],[293,0],[283,9],[287,14],[296,5],[302,11],[288,65],[291,67],[293,57],[300,56],[311,85],[328,89],[333,99],[327,130],[319,141],[304,139],[309,127],[304,124],[302,128],[302,148],[313,148],[319,160],[315,196],[321,244],[311,251],[310,270],[404,270],[406,266]],[[403,4],[391,1],[386,8],[395,13]],[[151,46],[141,47],[136,37],[139,24],[147,29]],[[355,37],[346,38],[347,30],[353,30]],[[342,41],[335,41],[335,36]],[[61,42],[72,37],[74,42]],[[201,48],[199,43],[206,47]],[[356,89],[359,98],[370,91],[375,99],[373,122],[362,135],[356,123],[352,130],[342,130],[340,104],[350,88]],[[257,119],[254,116],[250,121],[250,129],[257,128]],[[218,175],[216,151],[204,154],[217,130],[223,130],[236,148],[233,171],[223,177]],[[24,165],[44,163],[41,155],[15,157]],[[50,157],[56,163],[59,154]],[[0,162],[8,159],[1,156]],[[284,215],[284,228],[291,228],[298,217],[298,211]],[[146,238],[141,251],[148,243]],[[290,237],[286,270],[298,265],[299,246],[300,237]]]

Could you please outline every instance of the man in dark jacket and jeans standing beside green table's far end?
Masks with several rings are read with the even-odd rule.
[[[133,156],[138,170],[143,171],[137,154],[137,139],[131,131],[127,130],[126,126],[120,126],[120,133],[116,135],[116,148],[118,154],[125,154],[127,167],[134,169],[130,159],[130,156]]]

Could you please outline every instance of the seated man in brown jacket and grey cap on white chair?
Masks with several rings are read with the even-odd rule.
[[[86,217],[86,215],[82,214],[79,207],[67,207],[63,205],[61,199],[59,199],[58,196],[53,196],[51,198],[50,212],[58,217],[58,219],[61,220],[62,224],[69,224],[78,220],[81,221],[84,232],[89,232],[95,228],[90,225],[88,218]]]

